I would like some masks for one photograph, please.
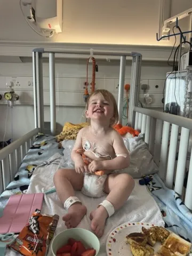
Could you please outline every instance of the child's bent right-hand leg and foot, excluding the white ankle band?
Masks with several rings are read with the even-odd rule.
[[[105,192],[109,194],[106,198],[113,204],[115,211],[121,208],[127,201],[134,188],[134,180],[127,173],[112,173],[105,182]],[[100,205],[90,214],[91,229],[94,233],[101,237],[105,228],[105,222],[108,218],[108,213],[104,206]]]

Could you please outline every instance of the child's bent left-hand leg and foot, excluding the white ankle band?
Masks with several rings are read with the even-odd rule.
[[[54,185],[61,202],[64,204],[70,196],[75,196],[74,190],[81,190],[83,187],[83,173],[76,173],[73,169],[59,169],[54,174]],[[86,207],[82,203],[76,202],[68,209],[68,213],[63,216],[63,221],[67,228],[75,228],[86,214]]]

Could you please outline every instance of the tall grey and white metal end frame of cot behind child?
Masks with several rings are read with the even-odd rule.
[[[33,81],[34,81],[34,116],[35,127],[39,127],[41,132],[44,132],[44,103],[43,103],[43,54],[49,53],[49,70],[50,70],[50,120],[51,120],[51,134],[55,135],[56,130],[56,106],[55,106],[55,54],[85,54],[90,55],[90,50],[78,49],[44,49],[37,48],[33,50]],[[137,106],[139,97],[139,83],[141,75],[141,61],[142,55],[137,52],[126,51],[102,51],[94,50],[92,54],[119,56],[120,70],[119,70],[119,90],[118,90],[118,113],[119,121],[122,122],[123,114],[123,95],[125,83],[125,68],[126,57],[132,57],[132,73],[131,73],[131,89],[130,89],[130,105],[129,105],[129,125],[132,125],[135,118],[133,106]],[[95,57],[97,58],[97,57]]]

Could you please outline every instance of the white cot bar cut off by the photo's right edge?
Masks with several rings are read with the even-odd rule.
[[[185,205],[192,210],[192,149],[191,149],[191,155],[190,155],[190,163],[189,163],[189,173],[188,173],[188,179],[187,179],[187,188],[186,188],[186,196],[185,196]]]

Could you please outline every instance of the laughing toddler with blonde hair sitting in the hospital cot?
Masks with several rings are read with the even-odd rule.
[[[63,216],[67,228],[76,227],[86,214],[86,206],[75,197],[74,190],[81,190],[91,197],[108,194],[90,214],[91,229],[101,237],[106,219],[121,208],[132,193],[134,180],[127,173],[118,173],[118,169],[129,166],[130,156],[121,135],[112,127],[118,122],[113,94],[107,90],[94,91],[87,100],[85,115],[90,119],[90,125],[77,134],[71,152],[74,170],[59,169],[54,175],[54,184],[68,211]],[[77,153],[79,149],[83,149],[89,165]],[[97,170],[103,170],[104,175],[95,175]]]

